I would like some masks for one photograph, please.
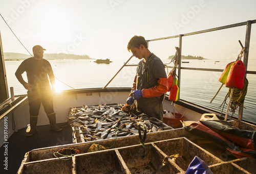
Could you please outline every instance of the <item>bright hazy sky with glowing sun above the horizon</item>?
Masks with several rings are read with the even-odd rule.
[[[41,45],[45,53],[89,55],[91,58],[128,59],[134,35],[154,39],[190,33],[256,19],[256,1],[238,0],[0,0],[0,13],[22,44],[32,53]],[[256,24],[251,47],[256,48]],[[246,26],[182,39],[182,55],[227,58],[240,50]],[[4,52],[29,54],[3,18],[0,32]],[[158,57],[175,54],[179,39],[150,42]],[[250,49],[250,56],[256,55]],[[218,56],[217,56],[218,55]],[[255,56],[256,57],[256,56]]]

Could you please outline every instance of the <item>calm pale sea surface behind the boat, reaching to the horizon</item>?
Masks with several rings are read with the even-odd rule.
[[[5,61],[8,87],[14,87],[14,95],[26,94],[23,85],[18,82],[14,73],[19,64],[23,60]],[[116,72],[123,66],[125,59],[115,59],[110,64],[97,64],[93,60],[49,60],[53,68],[56,78],[56,86],[59,90],[85,89],[85,88],[103,88]],[[170,60],[163,59],[164,63],[169,63]],[[205,59],[205,60],[185,60],[189,63],[182,63],[182,67],[190,68],[211,68],[224,69],[229,62]],[[129,64],[137,64],[139,60],[133,57]],[[169,64],[173,66],[172,63]],[[250,59],[248,62],[248,71],[253,71],[256,65],[256,59]],[[166,73],[170,69],[166,69]],[[116,78],[108,85],[108,87],[131,87],[136,74],[135,67],[124,67]],[[225,85],[212,103],[209,103],[215,93],[218,91],[221,83],[218,81],[221,72],[208,71],[181,71],[181,86],[180,98],[209,107],[221,112],[219,106],[225,99],[228,88]],[[27,79],[26,73],[23,74],[24,79]],[[256,75],[247,75],[249,81],[248,91],[245,98],[243,118],[256,122]],[[26,81],[26,80],[25,80]],[[66,83],[66,84],[64,84]],[[69,85],[69,86],[68,86]],[[71,88],[71,87],[72,88]],[[125,102],[125,101],[124,101]],[[227,101],[228,102],[228,101]],[[223,110],[225,115],[226,105]],[[237,116],[236,111],[235,116]]]

